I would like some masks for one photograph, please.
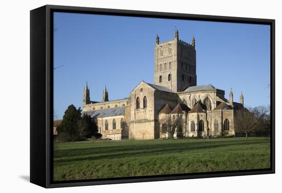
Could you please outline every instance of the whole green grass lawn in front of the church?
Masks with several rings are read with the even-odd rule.
[[[54,145],[54,181],[269,167],[269,138],[88,141]]]

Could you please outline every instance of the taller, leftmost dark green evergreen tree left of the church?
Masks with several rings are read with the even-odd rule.
[[[74,105],[68,106],[62,123],[57,127],[59,139],[62,141],[79,140],[77,121],[81,119],[81,114],[80,108],[76,109]]]

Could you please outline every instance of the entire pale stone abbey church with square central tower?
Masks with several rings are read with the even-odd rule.
[[[102,102],[90,100],[86,84],[83,113],[91,115],[103,139],[146,140],[182,137],[233,136],[234,112],[244,108],[244,97],[233,101],[211,84],[197,85],[195,38],[159,42],[156,35],[154,83],[141,81],[128,98],[109,101],[105,86]]]

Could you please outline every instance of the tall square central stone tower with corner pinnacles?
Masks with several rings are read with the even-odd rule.
[[[156,35],[154,84],[179,92],[197,85],[195,38],[189,44],[179,40],[177,29],[174,33],[163,43]]]

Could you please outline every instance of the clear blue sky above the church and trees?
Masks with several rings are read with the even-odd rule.
[[[82,107],[88,82],[91,101],[124,99],[142,80],[154,82],[155,36],[191,43],[195,36],[197,85],[212,84],[245,106],[270,104],[270,26],[54,13],[54,112],[62,119],[70,104]]]

